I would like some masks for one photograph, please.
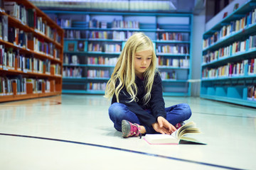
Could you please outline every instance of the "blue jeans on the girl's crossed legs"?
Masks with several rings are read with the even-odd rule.
[[[166,120],[171,123],[171,125],[176,125],[184,120],[188,120],[191,117],[191,108],[186,103],[177,104],[166,110]],[[146,111],[152,114],[151,111]],[[114,128],[118,131],[122,131],[122,120],[128,120],[130,123],[140,123],[139,118],[135,113],[129,111],[129,108],[122,103],[113,103],[109,108],[110,119],[114,123]],[[152,126],[143,125],[146,129],[146,133],[157,133]]]

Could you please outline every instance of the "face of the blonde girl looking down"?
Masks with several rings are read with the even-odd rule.
[[[139,78],[143,78],[144,72],[149,68],[153,57],[152,50],[146,50],[142,52],[136,52],[134,55],[134,68],[135,74]]]

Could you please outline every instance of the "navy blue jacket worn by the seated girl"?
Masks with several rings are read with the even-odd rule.
[[[117,80],[116,86],[119,84]],[[132,111],[137,115],[139,121],[142,125],[150,126],[152,123],[156,123],[157,118],[162,116],[166,118],[166,111],[164,106],[163,90],[161,85],[161,77],[158,72],[156,72],[154,77],[154,83],[151,89],[151,98],[146,106],[143,103],[143,97],[145,96],[145,86],[144,80],[136,77],[135,84],[138,87],[137,99],[138,101],[131,101],[131,98],[125,89],[125,87],[119,93],[119,103],[123,103],[128,106],[129,111]],[[112,103],[117,103],[117,97],[114,95],[112,98]],[[149,114],[145,110],[150,110],[152,114]]]

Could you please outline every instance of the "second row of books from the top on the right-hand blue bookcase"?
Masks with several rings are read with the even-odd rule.
[[[237,52],[245,52],[247,50],[255,49],[256,47],[256,35],[251,35],[247,40],[233,42],[233,44],[226,47],[220,47],[219,50],[214,52],[207,51],[206,55],[203,55],[203,63],[213,62],[223,57],[230,57]]]

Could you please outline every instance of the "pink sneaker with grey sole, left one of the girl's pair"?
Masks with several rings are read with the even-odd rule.
[[[132,136],[139,136],[140,138],[142,138],[140,130],[141,128],[139,128],[139,125],[137,123],[132,124],[128,120],[122,120],[122,136],[124,138]]]

